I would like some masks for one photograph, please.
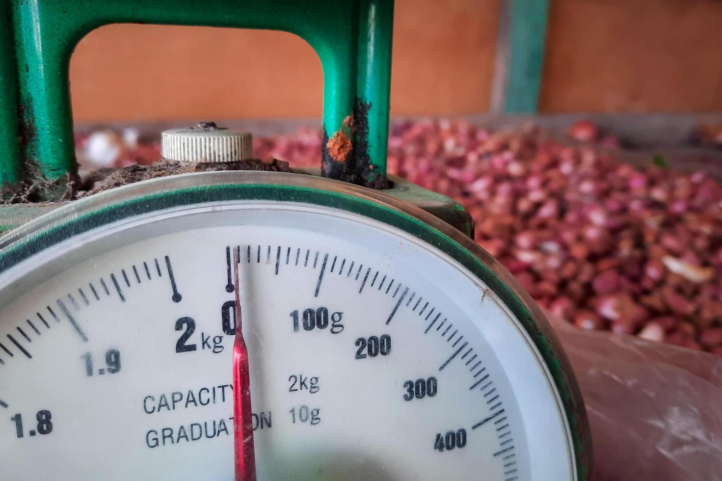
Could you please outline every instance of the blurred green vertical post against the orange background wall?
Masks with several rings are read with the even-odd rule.
[[[504,110],[536,113],[539,108],[548,0],[509,0],[509,63],[506,67]]]

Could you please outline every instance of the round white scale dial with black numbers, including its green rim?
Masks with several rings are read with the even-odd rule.
[[[5,246],[1,477],[232,480],[238,261],[259,480],[578,479],[560,381],[482,261],[368,191],[223,174]]]

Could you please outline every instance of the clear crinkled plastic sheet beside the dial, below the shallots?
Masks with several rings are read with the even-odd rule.
[[[722,480],[721,357],[549,319],[584,398],[593,480]]]

